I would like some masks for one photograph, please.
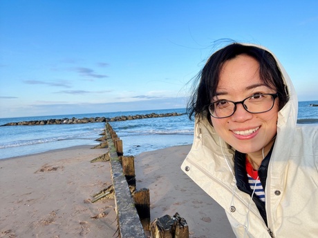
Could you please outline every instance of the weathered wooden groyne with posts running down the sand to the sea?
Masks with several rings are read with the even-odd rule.
[[[106,123],[111,174],[115,192],[116,212],[120,237],[188,238],[185,219],[176,213],[150,222],[150,193],[148,188],[135,190],[135,158],[124,156],[122,140],[109,123]]]

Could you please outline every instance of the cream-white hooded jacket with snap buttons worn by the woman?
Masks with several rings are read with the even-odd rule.
[[[194,142],[181,168],[225,209],[236,237],[318,237],[318,126],[297,124],[296,92],[275,59],[290,99],[279,111],[268,165],[268,226],[250,195],[236,187],[234,148],[216,134],[207,117],[196,117]]]

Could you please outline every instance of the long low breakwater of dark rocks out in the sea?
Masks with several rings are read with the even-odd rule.
[[[151,113],[146,115],[134,115],[134,116],[120,116],[120,117],[84,117],[77,119],[75,117],[63,118],[63,119],[48,119],[48,120],[37,120],[37,121],[19,121],[9,122],[1,126],[44,126],[44,125],[63,125],[63,124],[82,124],[82,123],[97,123],[97,122],[109,122],[109,121],[127,121],[135,119],[147,119],[156,117],[178,117],[185,115],[185,113],[169,112],[169,113]]]

